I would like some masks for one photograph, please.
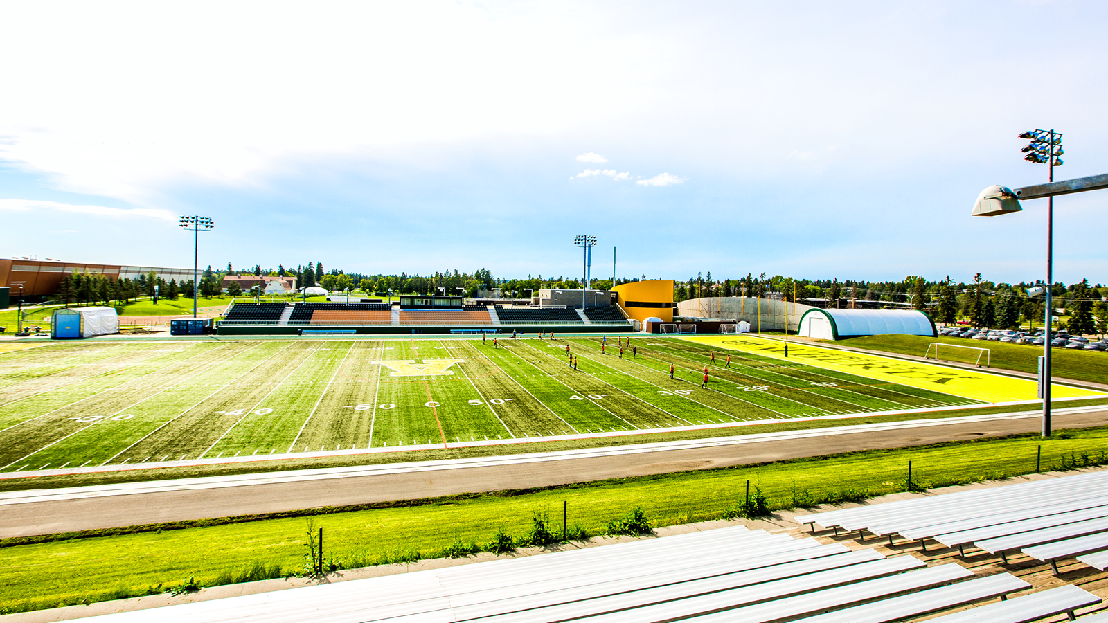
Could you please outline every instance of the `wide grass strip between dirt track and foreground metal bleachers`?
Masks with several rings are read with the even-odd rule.
[[[1104,462],[1108,427],[1061,432],[1043,440],[1018,436],[921,448],[853,452],[742,468],[606,480],[543,490],[423,500],[400,508],[317,514],[325,558],[336,569],[490,550],[497,531],[519,541],[535,518],[561,538],[568,503],[571,529],[604,533],[609,522],[642,509],[656,527],[733,515],[747,480],[770,509],[861,500],[902,491],[913,461],[917,488]],[[320,511],[311,511],[320,512]],[[242,523],[182,523],[123,535],[68,534],[63,541],[0,542],[0,609],[88,603],[123,596],[281,576],[304,570],[309,519],[285,517]],[[213,523],[213,522],[208,522]]]

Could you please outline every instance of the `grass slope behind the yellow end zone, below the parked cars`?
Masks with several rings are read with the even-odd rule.
[[[993,368],[1035,374],[1038,370],[1038,357],[1043,355],[1042,346],[1026,344],[1007,344],[1002,341],[982,341],[961,339],[956,337],[924,337],[916,335],[871,335],[851,337],[840,340],[843,346],[868,348],[900,355],[923,357],[927,346],[934,343],[953,344],[988,348]],[[1092,350],[1066,350],[1055,348],[1051,356],[1051,371],[1055,378],[1068,378],[1089,382],[1108,384],[1108,354]],[[982,359],[984,362],[984,358]]]

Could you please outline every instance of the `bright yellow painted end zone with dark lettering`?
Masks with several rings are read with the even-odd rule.
[[[688,341],[753,353],[774,359],[784,359],[784,343],[753,336],[696,336],[683,337]],[[1034,380],[992,375],[984,371],[947,368],[916,361],[905,361],[880,355],[852,353],[837,348],[825,348],[810,344],[789,343],[789,361],[806,364],[815,368],[827,368],[860,377],[896,382],[920,389],[942,391],[984,402],[1015,402],[1035,400]],[[1078,398],[1104,396],[1101,391],[1054,385],[1054,398]]]

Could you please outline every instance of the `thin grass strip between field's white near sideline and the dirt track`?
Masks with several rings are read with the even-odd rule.
[[[1057,408],[1067,406],[1108,405],[1108,398],[1090,400],[1056,400]],[[985,407],[977,409],[954,409],[948,411],[930,411],[921,413],[893,413],[888,416],[868,416],[844,418],[838,420],[776,421],[772,423],[737,426],[727,428],[686,430],[675,432],[655,432],[649,435],[628,435],[620,437],[597,437],[572,441],[540,441],[533,443],[511,443],[504,446],[479,446],[437,450],[410,450],[403,452],[381,452],[368,455],[347,455],[310,459],[283,459],[274,461],[252,461],[238,463],[214,463],[189,467],[171,467],[155,469],[137,469],[126,471],[66,473],[59,476],[39,476],[24,478],[0,479],[0,491],[25,491],[31,489],[58,489],[62,487],[86,487],[95,484],[116,484],[123,482],[146,482],[153,480],[171,480],[177,478],[204,478],[214,476],[235,476],[269,471],[289,471],[299,469],[343,468],[368,464],[387,464],[408,461],[435,461],[444,459],[468,459],[481,457],[499,457],[526,452],[554,452],[583,448],[611,448],[633,443],[656,443],[688,439],[710,439],[737,435],[756,435],[784,430],[809,430],[813,428],[831,428],[840,426],[858,426],[904,420],[922,420],[935,418],[952,418],[968,415],[1006,413],[1035,409],[1035,406],[1020,405],[1015,407]]]

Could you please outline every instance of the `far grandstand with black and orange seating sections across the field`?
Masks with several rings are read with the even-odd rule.
[[[623,313],[611,306],[572,308],[505,308],[466,305],[461,309],[393,308],[387,303],[236,303],[228,325],[625,325]]]

